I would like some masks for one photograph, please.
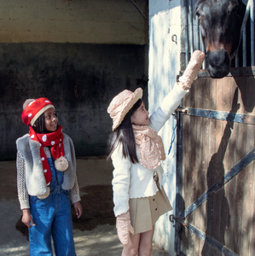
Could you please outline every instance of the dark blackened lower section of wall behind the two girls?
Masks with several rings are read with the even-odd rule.
[[[106,154],[107,106],[121,90],[147,85],[147,45],[0,44],[0,160],[13,160],[27,98],[48,97],[76,154]],[[147,99],[147,90],[144,98]]]

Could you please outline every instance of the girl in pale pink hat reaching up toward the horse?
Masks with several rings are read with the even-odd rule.
[[[113,211],[123,256],[151,255],[154,224],[172,209],[162,186],[160,161],[165,160],[165,152],[157,133],[188,92],[204,57],[194,51],[180,81],[150,117],[141,88],[120,92],[107,108],[113,119],[108,155],[114,167]]]

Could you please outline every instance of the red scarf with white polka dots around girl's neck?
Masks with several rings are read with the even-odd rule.
[[[63,134],[62,134],[62,127],[59,126],[57,131],[46,133],[46,134],[40,134],[36,133],[32,126],[30,126],[29,135],[32,140],[37,141],[40,143],[40,154],[41,154],[41,160],[43,163],[43,172],[44,177],[46,179],[46,184],[49,186],[49,183],[51,181],[51,172],[49,169],[49,163],[46,159],[46,154],[43,150],[43,147],[51,147],[50,152],[52,157],[56,160],[59,159],[61,156],[65,156],[65,150],[63,146]]]

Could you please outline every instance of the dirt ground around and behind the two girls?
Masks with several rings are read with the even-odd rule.
[[[77,159],[83,215],[72,207],[73,236],[78,256],[121,255],[113,214],[113,166],[104,157]],[[0,255],[28,256],[27,227],[21,222],[15,161],[0,161]],[[154,245],[154,256],[167,255]]]

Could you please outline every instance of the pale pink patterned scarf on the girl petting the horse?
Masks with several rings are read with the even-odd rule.
[[[165,150],[161,137],[149,126],[132,125],[136,144],[140,145],[141,165],[148,169],[160,166],[165,160]]]

